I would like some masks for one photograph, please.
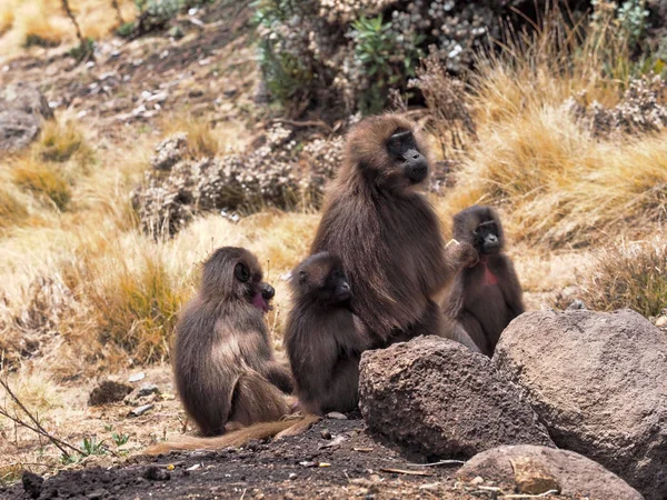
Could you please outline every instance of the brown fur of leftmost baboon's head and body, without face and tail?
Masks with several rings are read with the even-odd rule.
[[[247,282],[235,273],[239,263],[249,272]],[[291,374],[273,360],[263,311],[253,304],[263,300],[258,298],[266,287],[261,280],[259,262],[249,251],[216,250],[203,266],[199,294],[177,326],[176,386],[203,436],[289,413],[281,391],[292,390]]]

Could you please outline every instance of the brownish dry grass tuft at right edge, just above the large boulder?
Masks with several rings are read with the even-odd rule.
[[[585,277],[581,299],[589,309],[630,308],[650,317],[667,308],[667,243],[663,237],[600,250]]]

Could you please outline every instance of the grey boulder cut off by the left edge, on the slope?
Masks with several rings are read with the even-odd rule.
[[[43,120],[53,118],[49,102],[24,84],[0,89],[0,151],[19,151],[39,134]]]

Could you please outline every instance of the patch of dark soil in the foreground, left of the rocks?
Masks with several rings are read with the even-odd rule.
[[[362,420],[327,419],[301,436],[245,449],[131,458],[109,470],[63,471],[41,484],[32,477],[29,489],[17,483],[0,489],[0,497],[479,498],[455,486],[456,470],[410,462],[369,437]]]

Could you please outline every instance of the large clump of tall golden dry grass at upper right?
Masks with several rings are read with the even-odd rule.
[[[585,246],[595,236],[664,220],[667,131],[596,139],[564,107],[581,91],[614,104],[624,83],[614,79],[625,74],[623,50],[599,28],[545,27],[480,61],[474,84],[479,140],[457,173],[446,212],[477,202],[502,206],[518,240],[548,248]]]

